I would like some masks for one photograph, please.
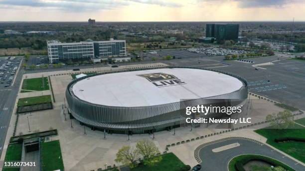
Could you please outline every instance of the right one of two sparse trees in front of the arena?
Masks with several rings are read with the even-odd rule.
[[[141,140],[137,143],[136,148],[139,154],[144,157],[145,165],[152,166],[162,160],[162,157],[157,155],[159,150],[152,141]]]

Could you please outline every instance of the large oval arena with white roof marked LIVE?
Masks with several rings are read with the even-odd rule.
[[[152,133],[185,122],[187,105],[247,98],[245,79],[224,72],[166,67],[100,73],[72,81],[66,89],[71,115],[92,129]],[[183,104],[183,105],[181,105]]]

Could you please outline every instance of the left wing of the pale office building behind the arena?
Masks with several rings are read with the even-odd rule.
[[[47,41],[49,63],[64,60],[90,59],[94,57],[93,42],[62,43]]]

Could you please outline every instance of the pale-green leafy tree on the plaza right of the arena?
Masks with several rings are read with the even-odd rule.
[[[284,110],[278,114],[269,114],[266,116],[266,120],[270,121],[270,125],[277,129],[285,129],[295,124],[294,116],[289,110]]]

